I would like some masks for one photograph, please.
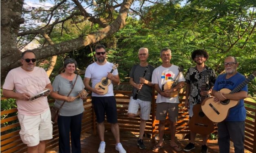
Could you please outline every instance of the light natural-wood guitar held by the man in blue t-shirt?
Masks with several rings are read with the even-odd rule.
[[[239,92],[246,84],[248,84],[256,76],[256,72],[250,75],[245,79],[240,85],[235,87],[232,91],[226,88],[223,88],[219,92],[224,94],[233,94]],[[228,117],[229,109],[235,107],[239,101],[235,100],[225,100],[221,102],[214,102],[213,97],[208,97],[202,103],[202,110],[206,116],[213,122],[219,123]]]

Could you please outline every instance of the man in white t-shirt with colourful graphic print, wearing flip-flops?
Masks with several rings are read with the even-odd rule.
[[[156,120],[159,120],[159,143],[153,147],[153,151],[158,151],[164,145],[163,137],[165,130],[165,119],[168,114],[170,121],[170,131],[171,131],[171,147],[176,151],[181,151],[181,147],[175,142],[175,131],[176,131],[176,121],[178,120],[178,96],[171,97],[172,93],[178,91],[184,86],[185,78],[179,74],[178,66],[170,63],[171,60],[171,50],[164,48],[160,53],[162,59],[162,65],[157,67],[153,71],[152,84],[155,86],[155,90],[158,92],[156,99]],[[168,81],[174,81],[177,77],[178,84],[167,90],[162,90],[162,85]]]

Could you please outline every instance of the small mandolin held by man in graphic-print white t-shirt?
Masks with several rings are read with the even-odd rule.
[[[172,89],[172,88],[174,88],[178,84],[178,79],[180,78],[180,75],[182,74],[182,72],[184,70],[184,67],[181,66],[181,67],[178,68],[178,70],[179,70],[179,74],[176,77],[176,79],[174,81],[168,81],[165,84],[163,84],[162,85],[162,91],[168,90],[168,89]],[[171,97],[177,97],[178,96],[178,92],[179,91],[172,92],[171,93]]]

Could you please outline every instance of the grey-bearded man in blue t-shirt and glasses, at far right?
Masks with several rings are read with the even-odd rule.
[[[217,77],[212,94],[215,102],[224,100],[239,101],[239,103],[229,109],[228,117],[218,123],[218,145],[220,153],[229,153],[230,139],[234,143],[235,153],[244,153],[245,141],[245,117],[244,98],[248,94],[248,86],[245,85],[239,92],[227,94],[218,92],[223,88],[233,90],[239,86],[246,78],[237,72],[238,61],[235,57],[226,57],[223,63],[225,74]]]

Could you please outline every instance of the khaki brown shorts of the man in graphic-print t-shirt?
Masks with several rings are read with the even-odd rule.
[[[172,122],[178,121],[178,103],[161,102],[156,105],[156,120],[165,120],[167,117]]]

